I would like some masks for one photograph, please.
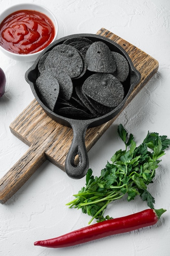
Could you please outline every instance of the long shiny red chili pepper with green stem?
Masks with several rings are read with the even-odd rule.
[[[72,231],[63,236],[37,241],[34,245],[51,248],[68,247],[106,236],[129,232],[156,224],[160,216],[165,211],[165,209],[147,209],[125,217],[98,222],[88,227]]]

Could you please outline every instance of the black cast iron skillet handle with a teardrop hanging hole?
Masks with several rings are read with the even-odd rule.
[[[66,157],[65,171],[73,179],[84,177],[88,171],[88,154],[85,145],[87,127],[88,125],[81,120],[78,124],[72,124],[73,140]],[[75,164],[76,156],[79,157],[78,164]]]

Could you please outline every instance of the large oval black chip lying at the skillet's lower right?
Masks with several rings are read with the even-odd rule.
[[[98,103],[115,108],[124,98],[124,88],[112,74],[96,73],[89,76],[82,85],[82,91]]]

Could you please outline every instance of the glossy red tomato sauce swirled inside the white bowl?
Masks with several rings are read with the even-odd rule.
[[[39,11],[15,11],[0,24],[0,45],[16,54],[39,52],[51,43],[54,35],[53,22]]]

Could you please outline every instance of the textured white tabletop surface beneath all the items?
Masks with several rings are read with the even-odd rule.
[[[140,144],[148,130],[170,137],[170,1],[169,0],[0,0],[0,11],[13,4],[35,2],[57,17],[58,37],[77,33],[95,34],[104,27],[159,61],[157,74],[135,97],[119,118],[89,151],[90,167],[99,175],[107,160],[123,147],[117,136],[122,123]],[[0,177],[28,149],[11,134],[9,125],[33,100],[24,79],[33,63],[20,63],[0,53],[0,67],[7,77],[0,99]],[[66,249],[35,247],[35,240],[53,238],[87,225],[90,217],[68,209],[73,193],[85,178],[72,180],[46,161],[21,189],[0,205],[0,256],[169,256],[170,255],[170,150],[162,157],[154,183],[155,208],[165,208],[157,225]],[[107,214],[124,216],[147,208],[136,198],[114,202]]]

